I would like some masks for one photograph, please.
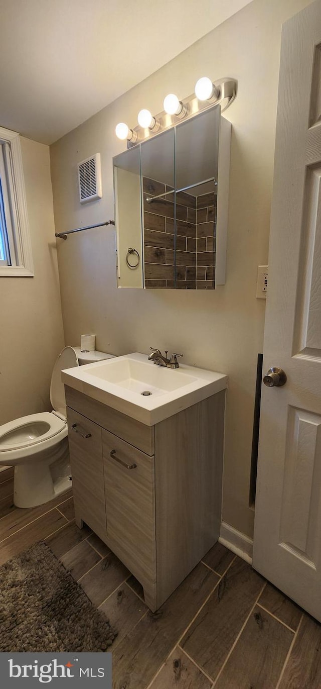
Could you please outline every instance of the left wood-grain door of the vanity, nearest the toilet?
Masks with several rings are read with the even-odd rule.
[[[102,431],[100,426],[68,407],[67,418],[76,517],[106,539]]]

